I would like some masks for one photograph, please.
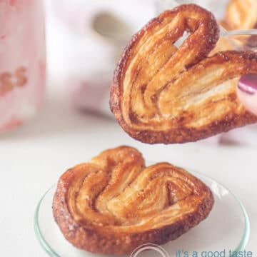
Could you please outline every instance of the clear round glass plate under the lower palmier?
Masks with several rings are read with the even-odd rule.
[[[245,208],[241,202],[227,188],[212,178],[200,173],[193,173],[211,188],[215,197],[215,204],[208,218],[198,226],[192,228],[175,241],[162,246],[168,256],[191,257],[193,251],[198,256],[216,257],[225,251],[243,251],[249,238],[249,221]],[[49,256],[61,257],[96,257],[99,254],[81,251],[72,246],[62,235],[54,221],[52,214],[52,200],[56,186],[52,186],[39,201],[36,207],[34,226],[36,237]],[[150,247],[151,248],[151,247]],[[180,253],[178,251],[181,251]],[[185,255],[186,251],[188,256]],[[157,253],[158,252],[158,253]],[[209,253],[203,253],[209,252]],[[160,256],[159,251],[142,251],[140,257]],[[222,257],[219,256],[219,257]]]

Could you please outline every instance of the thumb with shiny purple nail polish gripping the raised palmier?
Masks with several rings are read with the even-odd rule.
[[[257,74],[241,76],[238,81],[237,94],[246,109],[257,115]]]

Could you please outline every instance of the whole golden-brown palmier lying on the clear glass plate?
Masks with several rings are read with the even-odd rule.
[[[146,168],[141,153],[120,146],[66,171],[53,211],[74,246],[121,255],[178,238],[212,206],[213,195],[198,178],[169,163]]]

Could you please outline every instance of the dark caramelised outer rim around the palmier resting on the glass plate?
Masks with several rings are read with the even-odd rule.
[[[128,147],[123,146],[120,148]],[[176,169],[175,166],[173,167]],[[149,228],[136,232],[114,232],[110,231],[109,228],[97,225],[85,227],[74,220],[69,210],[68,192],[72,181],[74,181],[74,172],[76,172],[76,166],[66,171],[59,179],[53,200],[54,219],[64,237],[70,243],[77,248],[93,253],[122,255],[131,253],[133,249],[141,246],[143,243],[156,243],[158,245],[167,243],[203,221],[210,213],[214,203],[210,188],[204,185],[198,178],[188,174],[193,183],[196,183],[196,186],[200,188],[196,189],[196,191],[199,190],[198,193],[203,193],[204,196],[193,211],[184,213],[176,222],[161,226],[160,228]]]

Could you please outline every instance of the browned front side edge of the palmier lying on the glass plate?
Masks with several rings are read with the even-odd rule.
[[[175,240],[190,228],[207,218],[213,207],[214,199],[211,191],[198,210],[190,215],[184,216],[180,221],[159,229],[152,229],[141,233],[112,234],[109,237],[102,236],[94,230],[86,229],[74,223],[69,209],[64,204],[65,186],[59,187],[54,196],[54,218],[59,224],[65,238],[77,248],[92,253],[104,253],[123,255],[131,253],[133,249],[144,243],[155,243],[161,245],[168,241]],[[69,228],[73,227],[71,231]]]

